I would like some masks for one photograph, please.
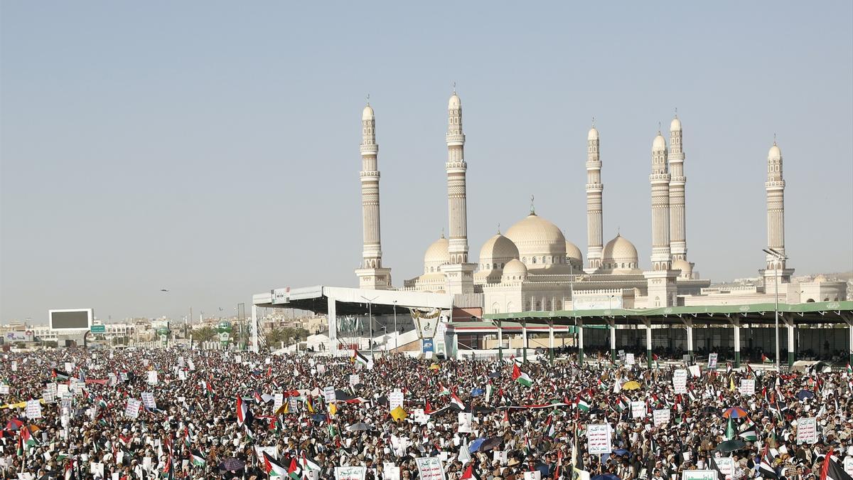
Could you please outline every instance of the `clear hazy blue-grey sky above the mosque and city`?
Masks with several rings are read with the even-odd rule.
[[[789,265],[853,268],[847,0],[3,2],[0,31],[0,322],[233,313],[273,288],[356,286],[368,94],[383,263],[402,286],[447,228],[454,82],[472,259],[531,195],[585,255],[595,117],[604,237],[648,267],[651,146],[677,108],[703,278],[763,266],[774,135]]]

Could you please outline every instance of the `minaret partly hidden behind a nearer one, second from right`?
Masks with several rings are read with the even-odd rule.
[[[682,149],[682,120],[670,123],[670,254],[672,260],[688,260],[687,225],[684,210],[684,150]],[[691,268],[691,270],[693,270]],[[682,272],[682,277],[689,272]]]

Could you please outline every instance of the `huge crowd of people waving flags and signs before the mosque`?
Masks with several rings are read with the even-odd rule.
[[[450,480],[681,480],[684,471],[823,480],[827,465],[853,467],[844,369],[369,356],[5,353],[0,473],[335,478],[335,467],[352,466],[365,479],[414,479],[427,457]],[[596,425],[605,435],[596,429],[591,445]]]

